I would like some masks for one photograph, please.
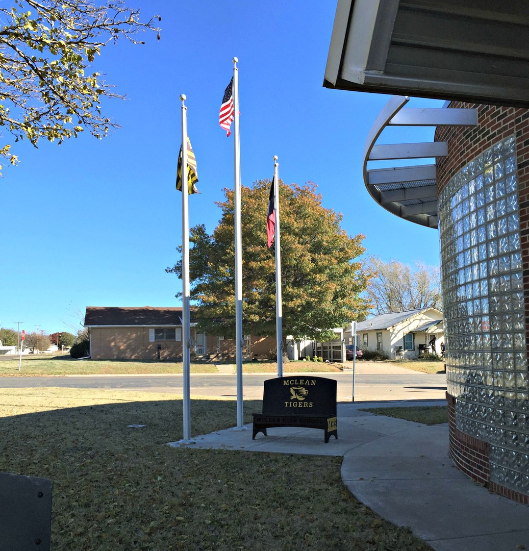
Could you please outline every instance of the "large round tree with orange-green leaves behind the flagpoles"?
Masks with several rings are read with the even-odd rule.
[[[241,189],[244,332],[259,336],[276,334],[275,245],[268,249],[266,238],[270,185],[261,180]],[[350,237],[342,215],[324,208],[315,190],[311,182],[279,185],[283,334],[325,341],[369,310],[360,297],[369,274],[355,260],[364,236]],[[235,331],[234,193],[224,193],[213,234],[204,225],[190,232],[191,299],[201,329],[221,335]],[[181,278],[181,262],[166,271]]]

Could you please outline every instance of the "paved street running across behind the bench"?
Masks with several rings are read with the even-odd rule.
[[[380,365],[380,364],[379,364]],[[307,374],[298,377],[307,376]],[[318,374],[338,382],[338,401],[351,401],[353,373]],[[293,378],[296,375],[292,375]],[[272,374],[245,374],[243,392],[247,399],[262,399],[263,381]],[[355,402],[445,399],[446,375],[429,375],[400,368],[359,366],[355,371]],[[181,375],[123,375],[67,377],[0,377],[0,388],[58,386],[65,388],[109,388],[114,390],[182,393]],[[237,394],[232,374],[191,375],[191,396],[233,397]]]

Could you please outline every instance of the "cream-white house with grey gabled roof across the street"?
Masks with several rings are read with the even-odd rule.
[[[444,343],[442,312],[435,308],[420,308],[406,312],[381,314],[357,323],[357,346],[363,350],[381,350],[388,358],[417,358],[435,337],[435,352],[441,353]],[[352,344],[351,328],[344,338]]]

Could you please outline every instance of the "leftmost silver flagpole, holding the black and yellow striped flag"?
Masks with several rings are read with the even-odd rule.
[[[191,315],[189,283],[189,196],[187,180],[187,107],[182,100],[182,370],[183,370],[183,440],[180,444],[195,444],[191,440]]]

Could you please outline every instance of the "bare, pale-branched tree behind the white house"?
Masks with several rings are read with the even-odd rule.
[[[398,260],[384,262],[372,257],[375,274],[368,284],[368,296],[376,314],[433,307],[440,310],[441,282],[438,267],[417,263],[415,269]]]

